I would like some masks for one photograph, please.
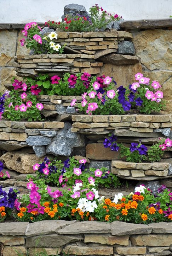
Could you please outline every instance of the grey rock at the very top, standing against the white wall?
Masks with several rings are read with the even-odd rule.
[[[84,5],[78,5],[78,4],[65,5],[64,6],[64,15],[62,15],[62,21],[64,21],[64,18],[66,17],[66,15],[76,16],[78,14],[80,16],[90,17],[90,15],[86,11]]]

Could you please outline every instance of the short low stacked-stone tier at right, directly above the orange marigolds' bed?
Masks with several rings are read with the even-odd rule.
[[[167,162],[134,163],[112,161],[111,172],[128,180],[158,180],[172,177],[170,164]]]

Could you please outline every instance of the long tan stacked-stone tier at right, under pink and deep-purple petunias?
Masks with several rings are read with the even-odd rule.
[[[119,116],[73,115],[72,131],[83,134],[108,134],[119,137],[158,138],[172,127],[172,115],[127,114]],[[170,129],[169,129],[170,130]]]

